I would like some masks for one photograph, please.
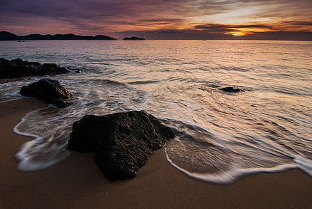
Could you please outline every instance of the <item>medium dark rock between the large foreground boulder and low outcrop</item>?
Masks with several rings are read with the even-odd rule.
[[[70,105],[65,100],[74,96],[58,81],[52,79],[41,79],[28,86],[23,86],[20,93],[24,96],[35,97],[48,104],[56,104],[58,107],[67,107]]]

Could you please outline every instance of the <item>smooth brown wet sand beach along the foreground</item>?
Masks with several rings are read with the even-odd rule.
[[[29,111],[45,107],[23,98],[0,103],[0,208],[309,208],[312,178],[298,169],[244,176],[229,185],[189,178],[156,151],[136,178],[109,183],[94,154],[72,155],[34,172],[17,171],[14,155],[31,140],[12,130]]]

